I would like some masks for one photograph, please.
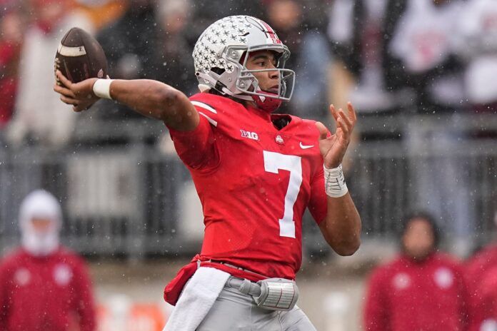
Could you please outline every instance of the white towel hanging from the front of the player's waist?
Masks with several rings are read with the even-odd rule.
[[[223,290],[229,273],[201,267],[186,284],[162,331],[195,331]]]

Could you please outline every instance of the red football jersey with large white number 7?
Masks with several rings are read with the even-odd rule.
[[[171,130],[171,138],[204,210],[201,259],[294,279],[304,211],[309,208],[317,223],[326,216],[315,122],[209,93],[190,100],[200,124],[194,131]],[[278,118],[289,123],[278,129]]]

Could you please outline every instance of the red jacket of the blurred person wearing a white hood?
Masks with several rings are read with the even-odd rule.
[[[59,248],[45,257],[20,249],[0,265],[0,330],[95,330],[94,302],[86,266]]]

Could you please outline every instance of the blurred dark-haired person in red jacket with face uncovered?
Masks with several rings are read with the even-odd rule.
[[[466,285],[461,265],[438,253],[431,215],[406,218],[402,253],[373,271],[364,310],[367,331],[466,330]]]

